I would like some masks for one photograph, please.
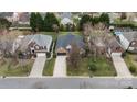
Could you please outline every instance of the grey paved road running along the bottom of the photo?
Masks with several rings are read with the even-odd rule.
[[[0,78],[0,89],[122,89],[137,88],[137,78]]]

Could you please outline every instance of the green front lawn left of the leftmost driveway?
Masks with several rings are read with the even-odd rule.
[[[27,65],[22,68],[19,63],[0,60],[0,76],[28,76],[31,71],[33,60],[27,60]]]

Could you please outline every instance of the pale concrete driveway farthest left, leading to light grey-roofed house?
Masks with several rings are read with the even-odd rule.
[[[42,77],[45,60],[46,56],[44,54],[38,55],[29,77]]]

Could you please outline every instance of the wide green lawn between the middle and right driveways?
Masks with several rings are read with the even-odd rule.
[[[83,58],[78,65],[78,68],[72,68],[67,65],[68,76],[116,76],[113,63],[105,58],[96,59],[96,71],[88,70],[88,64],[93,63],[92,58]]]

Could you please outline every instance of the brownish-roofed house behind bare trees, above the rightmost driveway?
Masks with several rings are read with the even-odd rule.
[[[107,39],[103,36],[92,37],[89,45],[91,50],[96,48],[98,55],[110,55],[112,53],[122,53],[124,50],[118,41],[113,36]]]

